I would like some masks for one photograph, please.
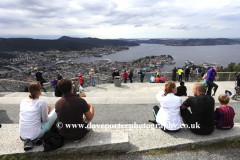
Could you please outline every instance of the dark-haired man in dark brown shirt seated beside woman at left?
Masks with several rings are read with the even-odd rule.
[[[74,89],[70,79],[62,79],[57,85],[64,94],[55,104],[58,122],[63,124],[59,134],[65,140],[78,142],[90,132],[87,125],[94,116],[93,105],[73,94]],[[67,128],[66,124],[77,124],[83,127]]]

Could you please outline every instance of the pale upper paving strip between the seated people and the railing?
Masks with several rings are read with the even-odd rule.
[[[235,82],[233,81],[219,81],[216,82],[219,86],[216,96],[213,98],[218,102],[218,96],[224,94],[225,90],[230,90],[234,93]],[[193,95],[192,87],[196,82],[186,83],[187,93]],[[85,88],[87,97],[84,99],[92,104],[148,104],[158,103],[155,96],[163,89],[163,83],[126,83],[122,87],[115,87],[114,84],[97,85],[96,87]],[[177,86],[179,84],[177,83]],[[20,104],[23,98],[27,98],[26,92],[4,92],[0,93],[0,104]],[[54,104],[59,97],[54,97],[53,92],[42,92],[41,99],[48,104]],[[183,96],[184,101],[187,97]],[[230,102],[238,102],[230,100]]]

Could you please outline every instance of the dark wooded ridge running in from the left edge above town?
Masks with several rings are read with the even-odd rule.
[[[93,47],[97,47],[97,45],[61,40],[0,38],[0,51],[79,51]]]

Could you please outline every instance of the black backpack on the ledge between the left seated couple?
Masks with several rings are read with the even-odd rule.
[[[54,125],[55,126],[55,125]],[[55,127],[45,132],[43,137],[44,152],[49,152],[63,146],[63,136],[59,134],[58,129]]]

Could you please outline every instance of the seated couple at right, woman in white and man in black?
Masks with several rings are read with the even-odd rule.
[[[211,96],[205,95],[205,86],[197,83],[193,86],[194,97],[187,98],[183,103],[175,96],[177,88],[174,82],[167,82],[156,98],[161,108],[154,106],[156,122],[164,131],[179,131],[182,121],[192,132],[208,135],[214,131],[214,105]],[[191,112],[187,109],[191,108]]]

